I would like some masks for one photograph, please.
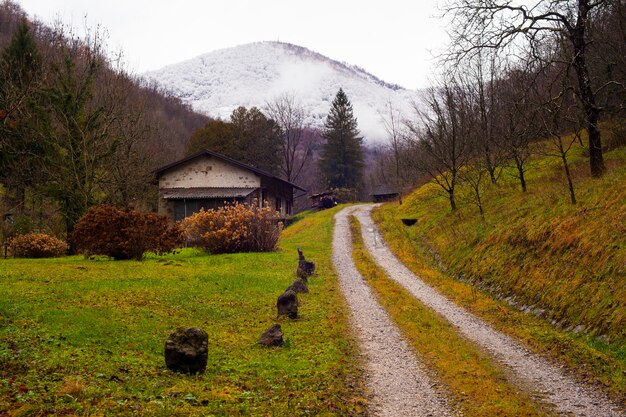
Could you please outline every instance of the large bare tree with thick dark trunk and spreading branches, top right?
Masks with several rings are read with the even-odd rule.
[[[545,56],[542,45],[554,34],[567,40],[564,59],[576,73],[576,94],[585,114],[589,134],[591,174],[599,177],[605,170],[598,121],[601,108],[588,64],[588,30],[594,13],[608,5],[607,0],[537,0],[530,5],[512,0],[451,0],[444,7],[452,18],[452,51],[448,58],[458,62],[482,49],[526,49],[536,62],[560,59]]]

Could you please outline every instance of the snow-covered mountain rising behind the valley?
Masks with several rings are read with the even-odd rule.
[[[322,127],[339,88],[348,95],[367,142],[384,140],[382,115],[410,114],[417,92],[388,84],[365,70],[301,46],[257,42],[221,49],[144,74],[202,113],[228,119],[238,106],[256,106],[284,93],[305,108],[307,122]]]

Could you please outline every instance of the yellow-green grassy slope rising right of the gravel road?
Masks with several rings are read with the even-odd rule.
[[[569,203],[558,161],[540,158],[530,172],[527,193],[518,191],[506,171],[499,186],[488,187],[485,221],[465,191],[460,190],[465,204],[451,213],[432,184],[375,217],[396,253],[432,285],[624,399],[626,149],[606,158],[606,176],[591,179],[581,150],[574,151],[575,206]],[[403,217],[418,218],[418,223],[407,229],[398,221]],[[432,251],[447,266],[445,273]],[[512,297],[518,307],[535,313],[544,310],[542,318],[518,313],[486,293]],[[556,330],[549,322],[585,331]]]

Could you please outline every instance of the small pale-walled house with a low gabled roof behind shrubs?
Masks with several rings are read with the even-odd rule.
[[[275,175],[204,150],[155,171],[159,183],[159,214],[172,221],[225,202],[255,200],[282,217],[292,214],[294,191],[303,188]]]

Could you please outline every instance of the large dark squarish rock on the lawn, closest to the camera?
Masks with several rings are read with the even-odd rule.
[[[175,372],[202,373],[206,369],[209,337],[203,330],[178,328],[165,342],[165,365]]]

